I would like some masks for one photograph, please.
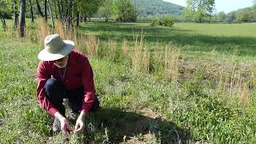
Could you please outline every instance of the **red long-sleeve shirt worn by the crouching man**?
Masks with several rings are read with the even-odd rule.
[[[61,79],[64,69],[60,69],[54,65],[54,62],[41,61],[38,64],[38,86],[37,96],[40,106],[47,110],[49,114],[54,115],[57,109],[46,98],[44,86],[47,79],[56,78]],[[64,85],[67,90],[84,87],[84,98],[82,102],[82,111],[88,112],[94,103],[95,90],[94,90],[94,76],[88,59],[81,54],[78,50],[73,50],[69,54],[68,63],[66,65],[66,74],[64,78]]]

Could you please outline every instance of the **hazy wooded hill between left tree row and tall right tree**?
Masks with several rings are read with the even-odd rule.
[[[165,15],[182,15],[183,6],[162,0],[133,0],[137,6],[138,17],[162,17]]]

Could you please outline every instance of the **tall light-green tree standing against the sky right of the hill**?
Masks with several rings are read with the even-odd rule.
[[[201,23],[203,18],[212,14],[214,4],[214,0],[187,0],[186,9],[184,10],[185,17]]]

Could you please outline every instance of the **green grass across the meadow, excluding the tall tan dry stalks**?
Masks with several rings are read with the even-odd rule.
[[[119,45],[122,38],[130,44],[134,42],[132,30],[140,32],[143,28],[149,49],[154,50],[159,41],[174,41],[182,47],[181,58],[202,66],[196,66],[190,78],[174,85],[154,72],[135,73],[129,62],[119,57],[90,58],[101,108],[87,115],[85,134],[72,134],[68,139],[62,134],[50,133],[52,118],[38,106],[35,74],[41,46],[28,40],[6,38],[10,34],[1,28],[0,142],[256,142],[255,86],[251,85],[249,102],[243,105],[238,94],[230,96],[225,90],[214,88],[216,82],[212,77],[218,78],[219,71],[209,69],[213,63],[214,66],[223,64],[228,77],[232,78],[232,73],[244,74],[243,78],[254,81],[251,78],[254,75],[250,75],[254,69],[244,70],[237,63],[242,62],[243,66],[243,62],[254,61],[254,30],[246,32],[254,24],[230,26],[180,23],[170,29],[148,24],[98,22],[80,27],[82,34],[96,34],[101,41],[115,39]],[[234,55],[236,45],[240,46],[239,53]],[[219,63],[222,57],[227,57],[229,65]],[[233,61],[234,57],[237,61]],[[232,69],[233,65],[238,68]]]

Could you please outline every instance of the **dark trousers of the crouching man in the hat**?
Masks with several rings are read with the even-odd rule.
[[[47,80],[44,89],[46,91],[46,97],[63,116],[65,116],[65,106],[62,104],[63,98],[69,98],[70,109],[75,113],[79,113],[82,109],[82,101],[84,97],[83,86],[74,90],[66,90],[62,82],[59,82],[55,78],[50,78]],[[95,97],[94,104],[89,112],[93,112],[99,107],[98,98],[97,96]]]

